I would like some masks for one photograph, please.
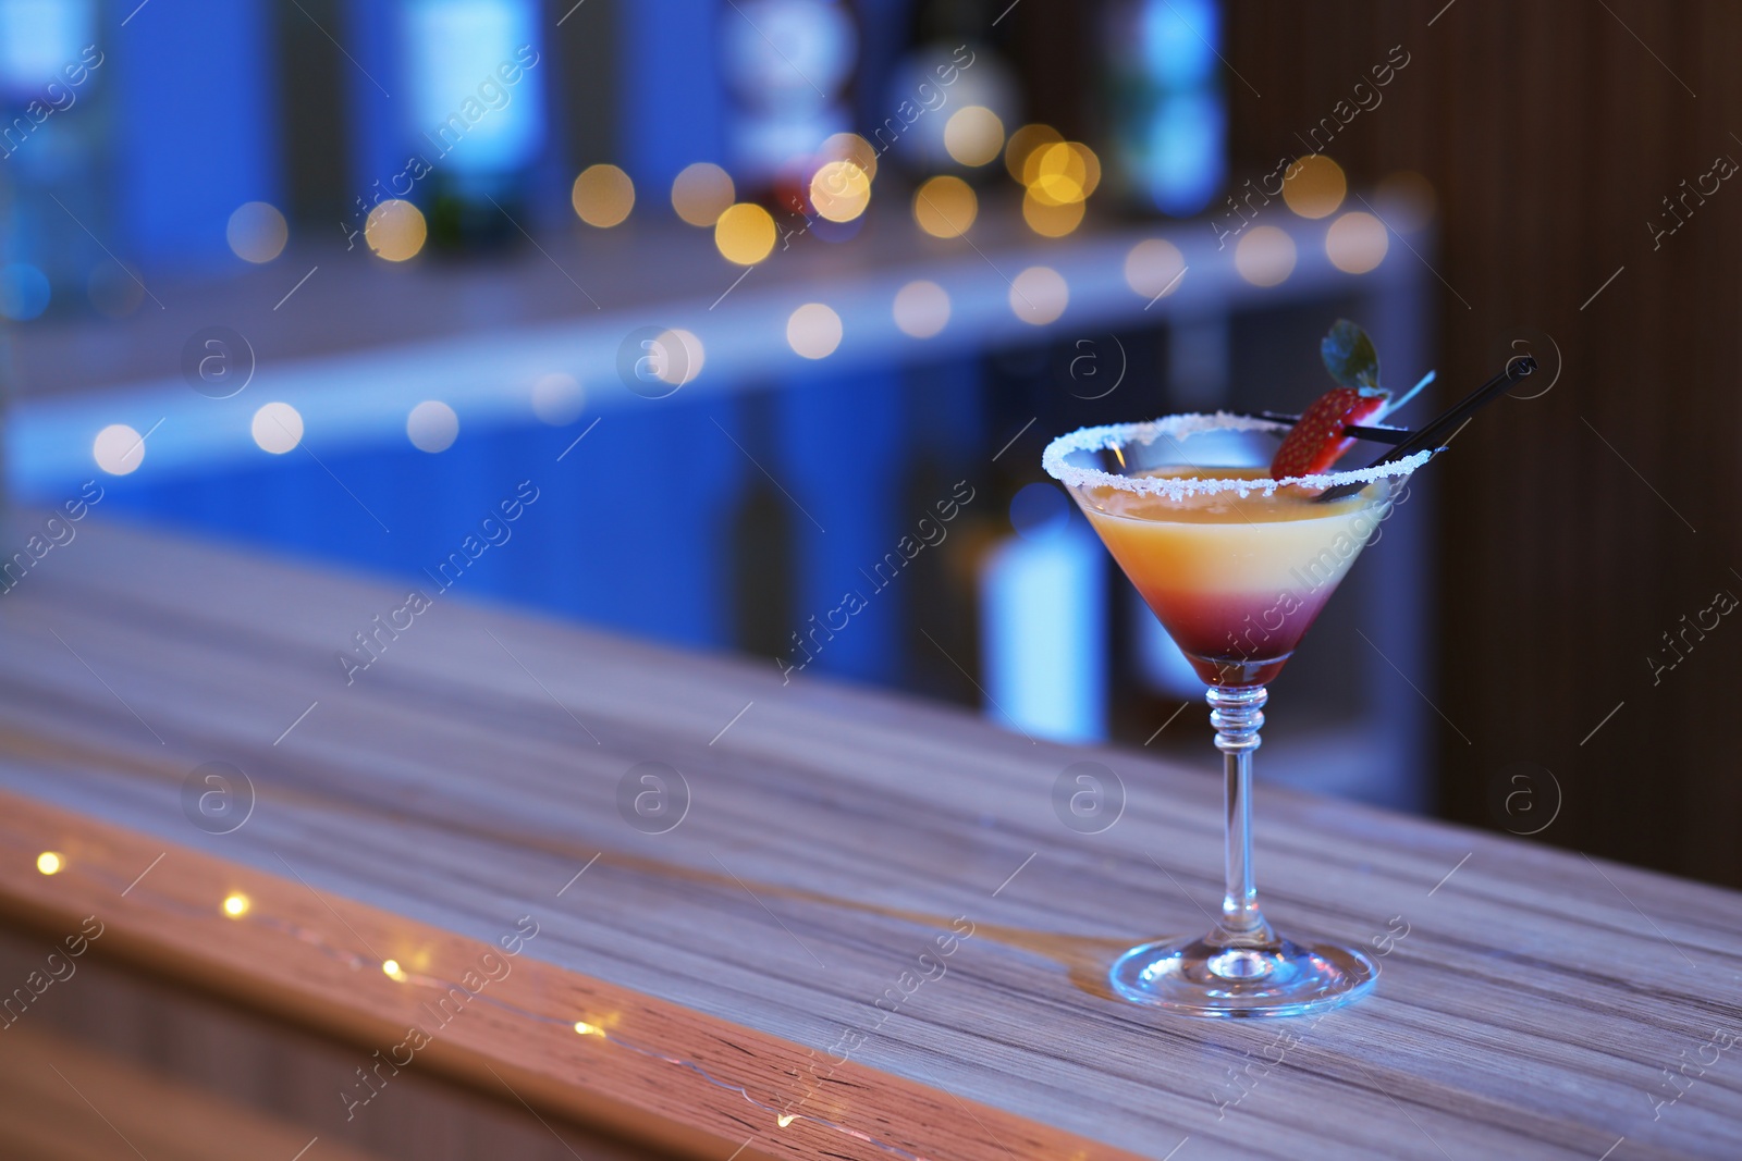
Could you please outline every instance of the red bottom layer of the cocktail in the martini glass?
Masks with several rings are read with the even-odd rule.
[[[1138,585],[1192,668],[1211,686],[1263,686],[1282,672],[1336,585],[1313,592],[1169,592]]]

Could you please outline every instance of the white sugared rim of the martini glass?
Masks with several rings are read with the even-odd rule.
[[[1286,432],[1287,428],[1287,423],[1259,419],[1256,416],[1239,416],[1226,411],[1193,411],[1176,416],[1162,416],[1160,419],[1148,419],[1144,423],[1085,426],[1077,428],[1070,435],[1061,435],[1047,444],[1047,451],[1040,456],[1040,466],[1047,470],[1047,475],[1059,480],[1066,487],[1117,487],[1118,491],[1136,493],[1139,496],[1167,496],[1169,500],[1183,500],[1185,496],[1212,496],[1216,493],[1239,493],[1240,496],[1261,493],[1268,496],[1279,487],[1289,486],[1324,489],[1336,487],[1340,484],[1371,484],[1373,480],[1392,475],[1409,475],[1432,460],[1434,451],[1437,451],[1430,447],[1427,451],[1418,451],[1413,456],[1406,456],[1392,463],[1381,463],[1373,468],[1322,472],[1319,475],[1291,475],[1282,480],[1272,480],[1268,477],[1256,480],[1200,480],[1157,475],[1115,475],[1111,472],[1103,472],[1101,468],[1080,468],[1064,461],[1064,456],[1073,451],[1106,451],[1110,447],[1125,447],[1131,444],[1148,446],[1162,435],[1167,435],[1169,439],[1183,439],[1200,432]]]

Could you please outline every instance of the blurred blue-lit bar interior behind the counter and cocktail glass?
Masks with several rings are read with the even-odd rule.
[[[1439,371],[1404,423],[1529,352],[1277,681],[1261,776],[1742,884],[1702,724],[1742,632],[1739,33],[1639,0],[0,0],[9,498],[1207,771],[1202,689],[1045,442],[1300,411],[1338,317],[1394,390]],[[336,668],[385,654],[348,630]]]

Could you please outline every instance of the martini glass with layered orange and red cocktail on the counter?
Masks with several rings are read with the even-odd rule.
[[[1178,414],[1094,426],[1047,447],[1125,576],[1209,686],[1226,776],[1226,893],[1202,938],[1132,947],[1122,997],[1198,1017],[1289,1017],[1359,999],[1378,970],[1352,947],[1277,935],[1252,881],[1252,750],[1265,682],[1390,513],[1420,451],[1357,472],[1272,480],[1287,425]],[[1334,500],[1319,496],[1336,489]]]

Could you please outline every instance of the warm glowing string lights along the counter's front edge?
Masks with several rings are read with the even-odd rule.
[[[66,856],[61,855],[59,851],[42,851],[40,855],[37,855],[37,870],[42,872],[44,876],[57,874],[64,867],[66,867]],[[101,879],[111,879],[113,877],[113,876],[108,876],[108,874],[105,874],[101,870],[94,870],[94,872],[87,872],[87,874],[96,874]],[[146,889],[150,889],[150,888],[146,888]],[[186,905],[185,902],[181,902],[181,900],[178,900],[174,896],[157,895],[155,902],[157,902],[159,907],[179,912],[179,914],[188,916],[188,917],[207,917],[207,916],[211,916],[211,910],[199,909],[199,907],[190,907],[190,905]],[[272,916],[263,916],[263,914],[260,914],[260,912],[254,910],[253,900],[247,895],[240,893],[240,891],[230,891],[228,895],[225,895],[218,902],[216,910],[221,912],[223,916],[226,916],[232,921],[237,921],[237,923],[253,923],[253,924],[260,924],[263,928],[268,928],[272,931],[277,931],[280,935],[289,935],[289,936],[296,938],[301,943],[315,947],[321,954],[324,954],[324,956],[327,956],[327,957],[331,957],[331,959],[334,959],[334,961],[338,961],[338,963],[341,963],[341,964],[345,964],[345,966],[348,966],[352,970],[364,970],[364,968],[371,968],[371,966],[378,968],[381,971],[381,975],[385,975],[395,985],[402,985],[402,987],[427,987],[427,989],[434,989],[437,992],[448,992],[449,989],[465,989],[465,985],[460,983],[460,982],[456,982],[456,980],[444,980],[441,976],[420,975],[420,973],[406,971],[404,966],[401,966],[401,963],[397,959],[383,959],[380,963],[371,961],[371,959],[364,959],[362,956],[357,956],[355,952],[352,952],[348,949],[336,947],[321,931],[315,931],[315,929],[310,929],[310,928],[303,928],[300,924],[287,923],[287,921],[282,921],[282,919],[277,919],[277,917],[272,917]],[[714,1074],[711,1074],[704,1065],[700,1065],[700,1064],[697,1064],[693,1060],[685,1060],[681,1057],[671,1057],[667,1053],[662,1053],[662,1051],[653,1050],[653,1048],[646,1048],[646,1046],[638,1044],[638,1043],[634,1043],[634,1041],[631,1041],[631,1039],[627,1039],[624,1036],[618,1036],[617,1032],[611,1030],[611,1027],[617,1023],[617,1013],[611,1013],[610,1017],[604,1017],[604,1018],[598,1018],[596,1017],[594,1020],[570,1020],[570,1018],[547,1017],[547,1015],[544,1015],[540,1011],[533,1011],[530,1008],[521,1008],[519,1004],[505,1003],[505,1001],[502,1001],[502,999],[498,999],[498,997],[495,997],[491,994],[486,994],[486,992],[476,992],[476,994],[472,994],[472,999],[479,1001],[479,1003],[491,1004],[493,1008],[496,1008],[500,1011],[523,1017],[526,1020],[531,1020],[533,1023],[571,1029],[577,1036],[582,1036],[585,1039],[599,1039],[599,1041],[604,1041],[604,1043],[611,1044],[613,1048],[620,1048],[624,1051],[632,1051],[638,1057],[645,1057],[648,1060],[657,1060],[660,1064],[669,1064],[672,1067],[685,1069],[686,1072],[700,1077],[702,1081],[706,1081],[707,1084],[712,1084],[714,1088],[725,1090],[728,1093],[737,1093],[751,1107],[754,1107],[754,1109],[758,1109],[758,1111],[772,1116],[777,1128],[787,1128],[794,1121],[805,1121],[807,1124],[815,1124],[819,1128],[826,1128],[826,1130],[841,1133],[845,1137],[852,1137],[854,1140],[866,1142],[868,1145],[873,1145],[873,1147],[876,1147],[876,1149],[880,1149],[883,1152],[888,1152],[892,1156],[906,1158],[908,1161],[927,1161],[927,1158],[922,1158],[916,1152],[902,1149],[901,1145],[892,1145],[888,1142],[878,1140],[876,1137],[871,1137],[869,1133],[855,1130],[855,1128],[852,1128],[848,1124],[840,1124],[838,1121],[829,1121],[827,1117],[822,1117],[822,1116],[817,1116],[817,1114],[810,1114],[810,1112],[782,1112],[779,1105],[773,1105],[773,1104],[770,1104],[766,1100],[760,1100],[758,1097],[751,1095],[749,1088],[746,1088],[744,1084],[733,1084],[730,1081],[723,1081],[723,1079],[716,1077]]]

